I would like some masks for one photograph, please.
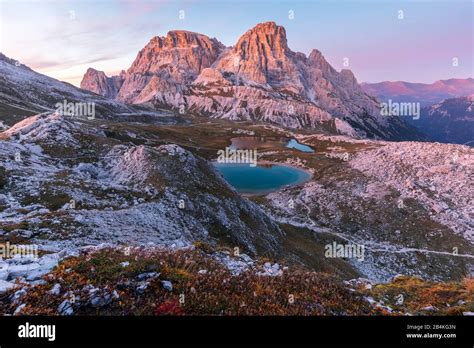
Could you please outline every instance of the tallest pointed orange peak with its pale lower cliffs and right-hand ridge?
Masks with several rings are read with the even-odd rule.
[[[297,128],[314,127],[335,116],[348,121],[360,135],[381,138],[390,138],[394,128],[404,127],[380,116],[378,102],[362,91],[350,70],[338,73],[317,50],[309,57],[291,51],[285,29],[274,22],[246,32],[213,67],[227,77],[222,86],[235,87],[219,88],[207,77],[212,88],[204,88],[206,71],[206,76],[198,77],[199,86],[195,83],[190,96],[180,101],[193,111]],[[390,130],[390,123],[399,124]]]

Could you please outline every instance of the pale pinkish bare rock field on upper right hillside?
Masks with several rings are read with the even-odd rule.
[[[474,242],[472,169],[474,152],[466,146],[387,143],[356,156],[355,169],[394,187],[402,201],[416,199],[435,221]],[[400,170],[403,168],[403,170]]]

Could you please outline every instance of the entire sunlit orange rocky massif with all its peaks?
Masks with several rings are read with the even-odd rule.
[[[256,25],[230,48],[202,34],[170,31],[154,37],[121,76],[89,70],[81,86],[126,103],[214,118],[291,128],[316,128],[338,118],[340,133],[418,138],[403,120],[380,116],[378,101],[350,70],[337,72],[317,50],[309,56],[293,52],[285,28],[274,22]]]

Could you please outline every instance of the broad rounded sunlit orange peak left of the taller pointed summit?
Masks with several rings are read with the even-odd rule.
[[[181,92],[216,60],[223,48],[216,39],[188,31],[170,31],[166,37],[154,37],[128,69],[117,99],[143,103],[154,94],[170,96]]]

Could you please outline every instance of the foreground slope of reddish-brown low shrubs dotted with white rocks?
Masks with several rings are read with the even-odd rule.
[[[84,248],[33,285],[1,284],[0,315],[474,315],[472,279],[342,281],[203,244]]]

